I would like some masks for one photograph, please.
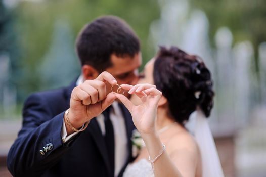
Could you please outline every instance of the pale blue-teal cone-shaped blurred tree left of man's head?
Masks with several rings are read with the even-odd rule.
[[[73,34],[64,20],[57,20],[49,50],[40,64],[42,90],[68,85],[80,74],[78,59],[73,51]],[[76,79],[76,78],[75,78]]]

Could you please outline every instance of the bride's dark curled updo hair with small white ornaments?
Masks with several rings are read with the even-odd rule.
[[[177,47],[160,47],[154,62],[154,83],[167,99],[172,116],[181,124],[199,106],[206,117],[213,107],[211,74],[196,55]]]

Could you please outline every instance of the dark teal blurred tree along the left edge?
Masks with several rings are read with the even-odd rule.
[[[10,100],[11,97],[16,102],[16,86],[21,74],[19,49],[13,22],[13,12],[7,9],[3,1],[0,0],[0,63],[2,65],[0,66],[0,108],[1,104],[7,105],[4,100]]]

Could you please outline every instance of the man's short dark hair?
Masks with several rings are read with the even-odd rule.
[[[134,57],[140,42],[124,20],[104,16],[85,25],[77,37],[76,51],[82,66],[88,64],[102,72],[112,66],[111,54]]]

